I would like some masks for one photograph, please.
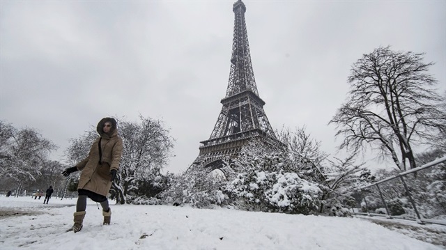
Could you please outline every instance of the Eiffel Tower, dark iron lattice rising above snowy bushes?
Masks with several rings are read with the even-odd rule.
[[[235,15],[231,71],[225,97],[220,101],[222,111],[210,138],[201,141],[200,153],[193,164],[219,168],[222,159],[237,157],[250,140],[277,142],[266,117],[265,102],[259,97],[249,52],[245,23],[246,6],[238,0],[233,4]]]

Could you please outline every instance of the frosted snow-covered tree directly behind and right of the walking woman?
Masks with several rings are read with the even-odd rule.
[[[138,123],[119,120],[118,126],[123,157],[112,188],[116,202],[123,204],[126,198],[136,196],[141,184],[157,182],[160,171],[169,163],[174,139],[162,120],[139,116]]]

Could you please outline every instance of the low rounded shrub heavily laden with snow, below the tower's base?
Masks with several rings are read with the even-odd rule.
[[[313,214],[320,205],[321,189],[296,173],[255,171],[240,174],[227,187],[243,209],[291,214]],[[240,203],[239,203],[240,204]]]

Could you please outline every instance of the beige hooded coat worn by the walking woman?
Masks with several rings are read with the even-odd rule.
[[[119,169],[119,162],[121,162],[123,153],[123,140],[118,136],[116,121],[114,121],[114,127],[108,134],[105,134],[102,130],[102,125],[105,122],[107,120],[104,118],[98,123],[97,130],[100,137],[91,146],[89,155],[79,162],[76,167],[82,171],[77,189],[90,190],[107,197],[110,187],[112,187],[110,170],[116,169],[118,171]],[[99,141],[102,159],[99,159]],[[102,164],[99,162],[102,162]]]

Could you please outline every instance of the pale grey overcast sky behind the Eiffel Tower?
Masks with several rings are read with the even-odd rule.
[[[233,1],[1,1],[0,119],[60,148],[105,116],[164,120],[184,171],[229,79]],[[379,46],[425,52],[446,89],[446,1],[244,1],[252,65],[274,129],[328,125],[351,65]],[[374,163],[369,163],[374,164]]]

